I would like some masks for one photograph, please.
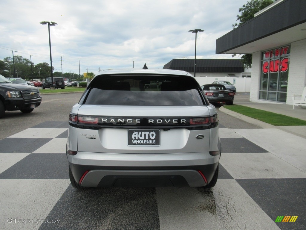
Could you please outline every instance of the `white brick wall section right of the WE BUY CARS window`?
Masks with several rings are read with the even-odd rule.
[[[291,44],[287,103],[293,104],[292,95],[302,95],[306,86],[306,39]]]

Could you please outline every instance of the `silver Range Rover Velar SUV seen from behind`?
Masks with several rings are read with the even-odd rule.
[[[221,155],[218,114],[185,71],[103,71],[71,109],[66,153],[79,189],[211,188]]]

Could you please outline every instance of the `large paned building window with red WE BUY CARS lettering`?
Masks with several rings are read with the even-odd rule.
[[[259,99],[286,102],[290,45],[262,52]]]

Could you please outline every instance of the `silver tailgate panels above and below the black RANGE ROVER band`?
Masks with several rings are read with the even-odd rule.
[[[209,151],[209,125],[189,124],[190,118],[210,116],[205,105],[81,105],[78,116],[86,118],[87,114],[91,114],[88,120],[97,118],[99,123],[78,124],[78,151],[151,154]]]

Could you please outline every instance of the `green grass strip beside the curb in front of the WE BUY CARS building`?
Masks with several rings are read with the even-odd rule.
[[[226,105],[224,108],[234,111],[236,113],[243,114],[248,117],[252,117],[259,121],[266,122],[276,126],[289,126],[289,125],[306,125],[306,121],[285,116],[278,113],[272,113],[261,109],[254,109],[243,105]]]

